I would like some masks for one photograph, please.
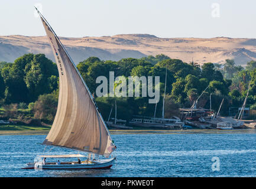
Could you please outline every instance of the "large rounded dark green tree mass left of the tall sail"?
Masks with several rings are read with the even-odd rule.
[[[5,84],[5,103],[28,103],[53,90],[48,78],[57,76],[58,71],[56,64],[44,54],[30,53],[17,58],[14,63],[5,64],[1,75]]]

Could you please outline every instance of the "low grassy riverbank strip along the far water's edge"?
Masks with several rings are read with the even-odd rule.
[[[49,130],[30,131],[0,131],[0,135],[47,135]],[[232,134],[232,133],[256,133],[256,129],[233,129],[209,130],[209,129],[189,129],[189,130],[115,130],[109,129],[111,135],[147,135],[147,134]]]

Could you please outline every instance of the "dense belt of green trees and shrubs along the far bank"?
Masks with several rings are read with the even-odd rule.
[[[77,64],[83,79],[92,93],[95,93],[96,78],[109,71],[116,76],[160,76],[160,102],[157,115],[161,116],[164,82],[167,69],[166,118],[179,115],[179,107],[190,107],[209,85],[197,106],[209,108],[212,93],[212,109],[217,110],[225,99],[222,115],[229,107],[240,107],[245,98],[248,83],[252,79],[247,107],[256,109],[256,62],[247,66],[236,66],[234,60],[226,63],[184,63],[163,54],[143,58],[123,58],[119,61],[103,61],[90,57]],[[58,80],[57,66],[44,54],[25,54],[14,63],[0,62],[0,116],[4,119],[42,120],[51,123],[57,109]],[[153,116],[155,104],[148,103],[148,97],[96,97],[95,101],[107,119],[116,100],[118,118],[129,120],[132,115]],[[34,119],[31,119],[34,118]],[[35,121],[34,121],[35,122]]]

